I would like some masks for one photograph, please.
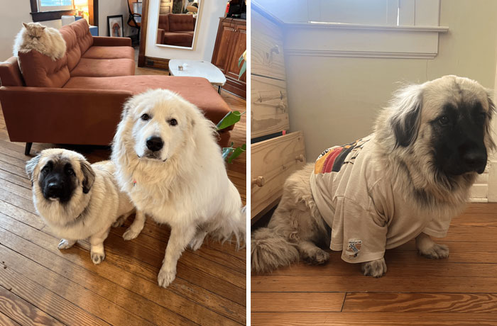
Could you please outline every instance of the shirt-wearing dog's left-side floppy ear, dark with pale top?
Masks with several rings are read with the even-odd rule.
[[[390,118],[395,147],[408,147],[417,138],[421,124],[422,88],[411,85],[400,89],[391,101]]]

